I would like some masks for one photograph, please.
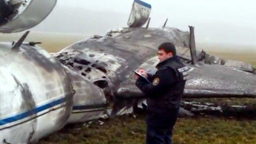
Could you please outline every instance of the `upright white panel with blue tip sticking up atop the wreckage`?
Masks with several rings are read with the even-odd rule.
[[[127,25],[129,27],[142,27],[149,19],[150,11],[151,5],[140,0],[134,0]]]

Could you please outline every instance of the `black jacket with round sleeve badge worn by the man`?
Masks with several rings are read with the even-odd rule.
[[[160,62],[156,68],[152,83],[138,78],[135,84],[148,96],[147,110],[159,113],[180,107],[188,68],[177,56]]]

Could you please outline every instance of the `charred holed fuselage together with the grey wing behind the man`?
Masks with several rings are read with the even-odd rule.
[[[189,67],[190,76],[184,97],[255,97],[256,77],[238,68],[225,66],[217,57],[197,52],[196,64],[190,55],[190,33],[176,28],[121,28],[105,37],[94,36],[65,48],[54,56],[103,89],[107,99],[143,98],[135,87],[132,70],[139,67],[156,71],[158,59],[154,57],[158,46],[166,41],[176,45],[177,55]],[[153,73],[152,73],[153,74]],[[239,76],[238,76],[239,75]],[[122,107],[127,102],[118,101]],[[146,104],[145,104],[146,105]],[[131,106],[131,105],[129,105]],[[118,110],[114,113],[118,113]]]

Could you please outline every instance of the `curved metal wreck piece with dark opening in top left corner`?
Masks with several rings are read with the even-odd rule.
[[[0,32],[21,32],[39,24],[57,0],[0,0]]]

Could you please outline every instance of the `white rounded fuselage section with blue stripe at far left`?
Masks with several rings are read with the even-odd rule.
[[[34,143],[61,129],[73,90],[62,66],[45,50],[0,43],[0,143]]]

